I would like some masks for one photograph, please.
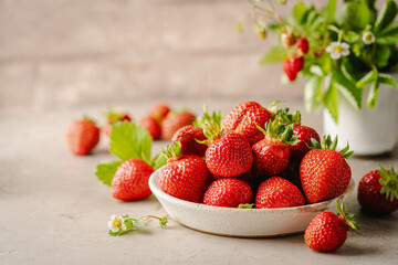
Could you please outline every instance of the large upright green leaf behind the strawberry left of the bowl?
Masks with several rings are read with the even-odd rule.
[[[151,137],[146,129],[129,121],[112,126],[111,152],[122,160],[139,158],[150,163]]]

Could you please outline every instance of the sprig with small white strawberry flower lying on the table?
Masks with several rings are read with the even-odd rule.
[[[122,234],[126,234],[132,231],[139,230],[144,227],[149,221],[149,219],[157,219],[159,220],[159,226],[161,229],[167,226],[168,216],[163,215],[160,218],[154,215],[145,215],[139,219],[134,219],[126,215],[112,215],[111,220],[107,223],[108,226],[108,234],[112,236],[119,236]]]

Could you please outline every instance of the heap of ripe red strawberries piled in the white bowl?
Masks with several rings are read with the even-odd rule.
[[[337,138],[321,141],[298,112],[245,102],[222,120],[205,113],[198,126],[182,127],[165,151],[159,183],[170,195],[217,206],[290,208],[336,198],[348,187],[348,147],[336,151]]]

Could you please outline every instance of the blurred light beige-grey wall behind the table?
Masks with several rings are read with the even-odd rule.
[[[272,38],[251,21],[234,30],[249,11],[244,0],[0,0],[0,110],[301,98],[303,84],[280,83],[281,65],[258,65]]]

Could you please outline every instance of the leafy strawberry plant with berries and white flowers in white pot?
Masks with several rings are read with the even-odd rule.
[[[249,2],[255,33],[265,39],[271,30],[275,35],[275,45],[260,64],[282,63],[290,82],[305,78],[307,110],[323,105],[337,121],[338,95],[354,109],[363,107],[365,97],[375,108],[380,84],[398,87],[390,75],[398,68],[395,0],[385,1],[380,10],[375,0],[329,0],[322,9],[297,1],[289,18],[281,18],[274,7],[286,1]]]

